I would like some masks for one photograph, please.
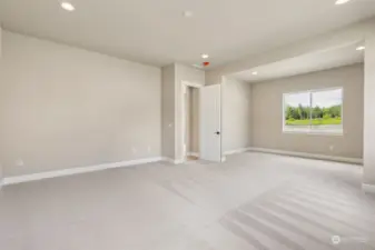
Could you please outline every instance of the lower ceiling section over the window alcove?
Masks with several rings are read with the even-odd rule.
[[[351,44],[303,54],[234,73],[231,77],[248,82],[259,82],[349,66],[364,61],[364,51],[356,50],[358,46],[362,44]],[[254,76],[253,72],[257,72],[257,74]]]

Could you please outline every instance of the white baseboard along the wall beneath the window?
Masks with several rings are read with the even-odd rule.
[[[290,157],[300,157],[300,158],[363,164],[363,159],[359,159],[359,158],[334,157],[334,156],[324,156],[324,154],[285,151],[285,150],[277,150],[277,149],[265,149],[265,148],[250,148],[249,150],[253,152],[275,153],[275,154],[283,154],[283,156],[290,156]]]

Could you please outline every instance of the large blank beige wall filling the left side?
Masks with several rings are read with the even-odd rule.
[[[7,31],[1,67],[6,176],[161,154],[159,68]]]

